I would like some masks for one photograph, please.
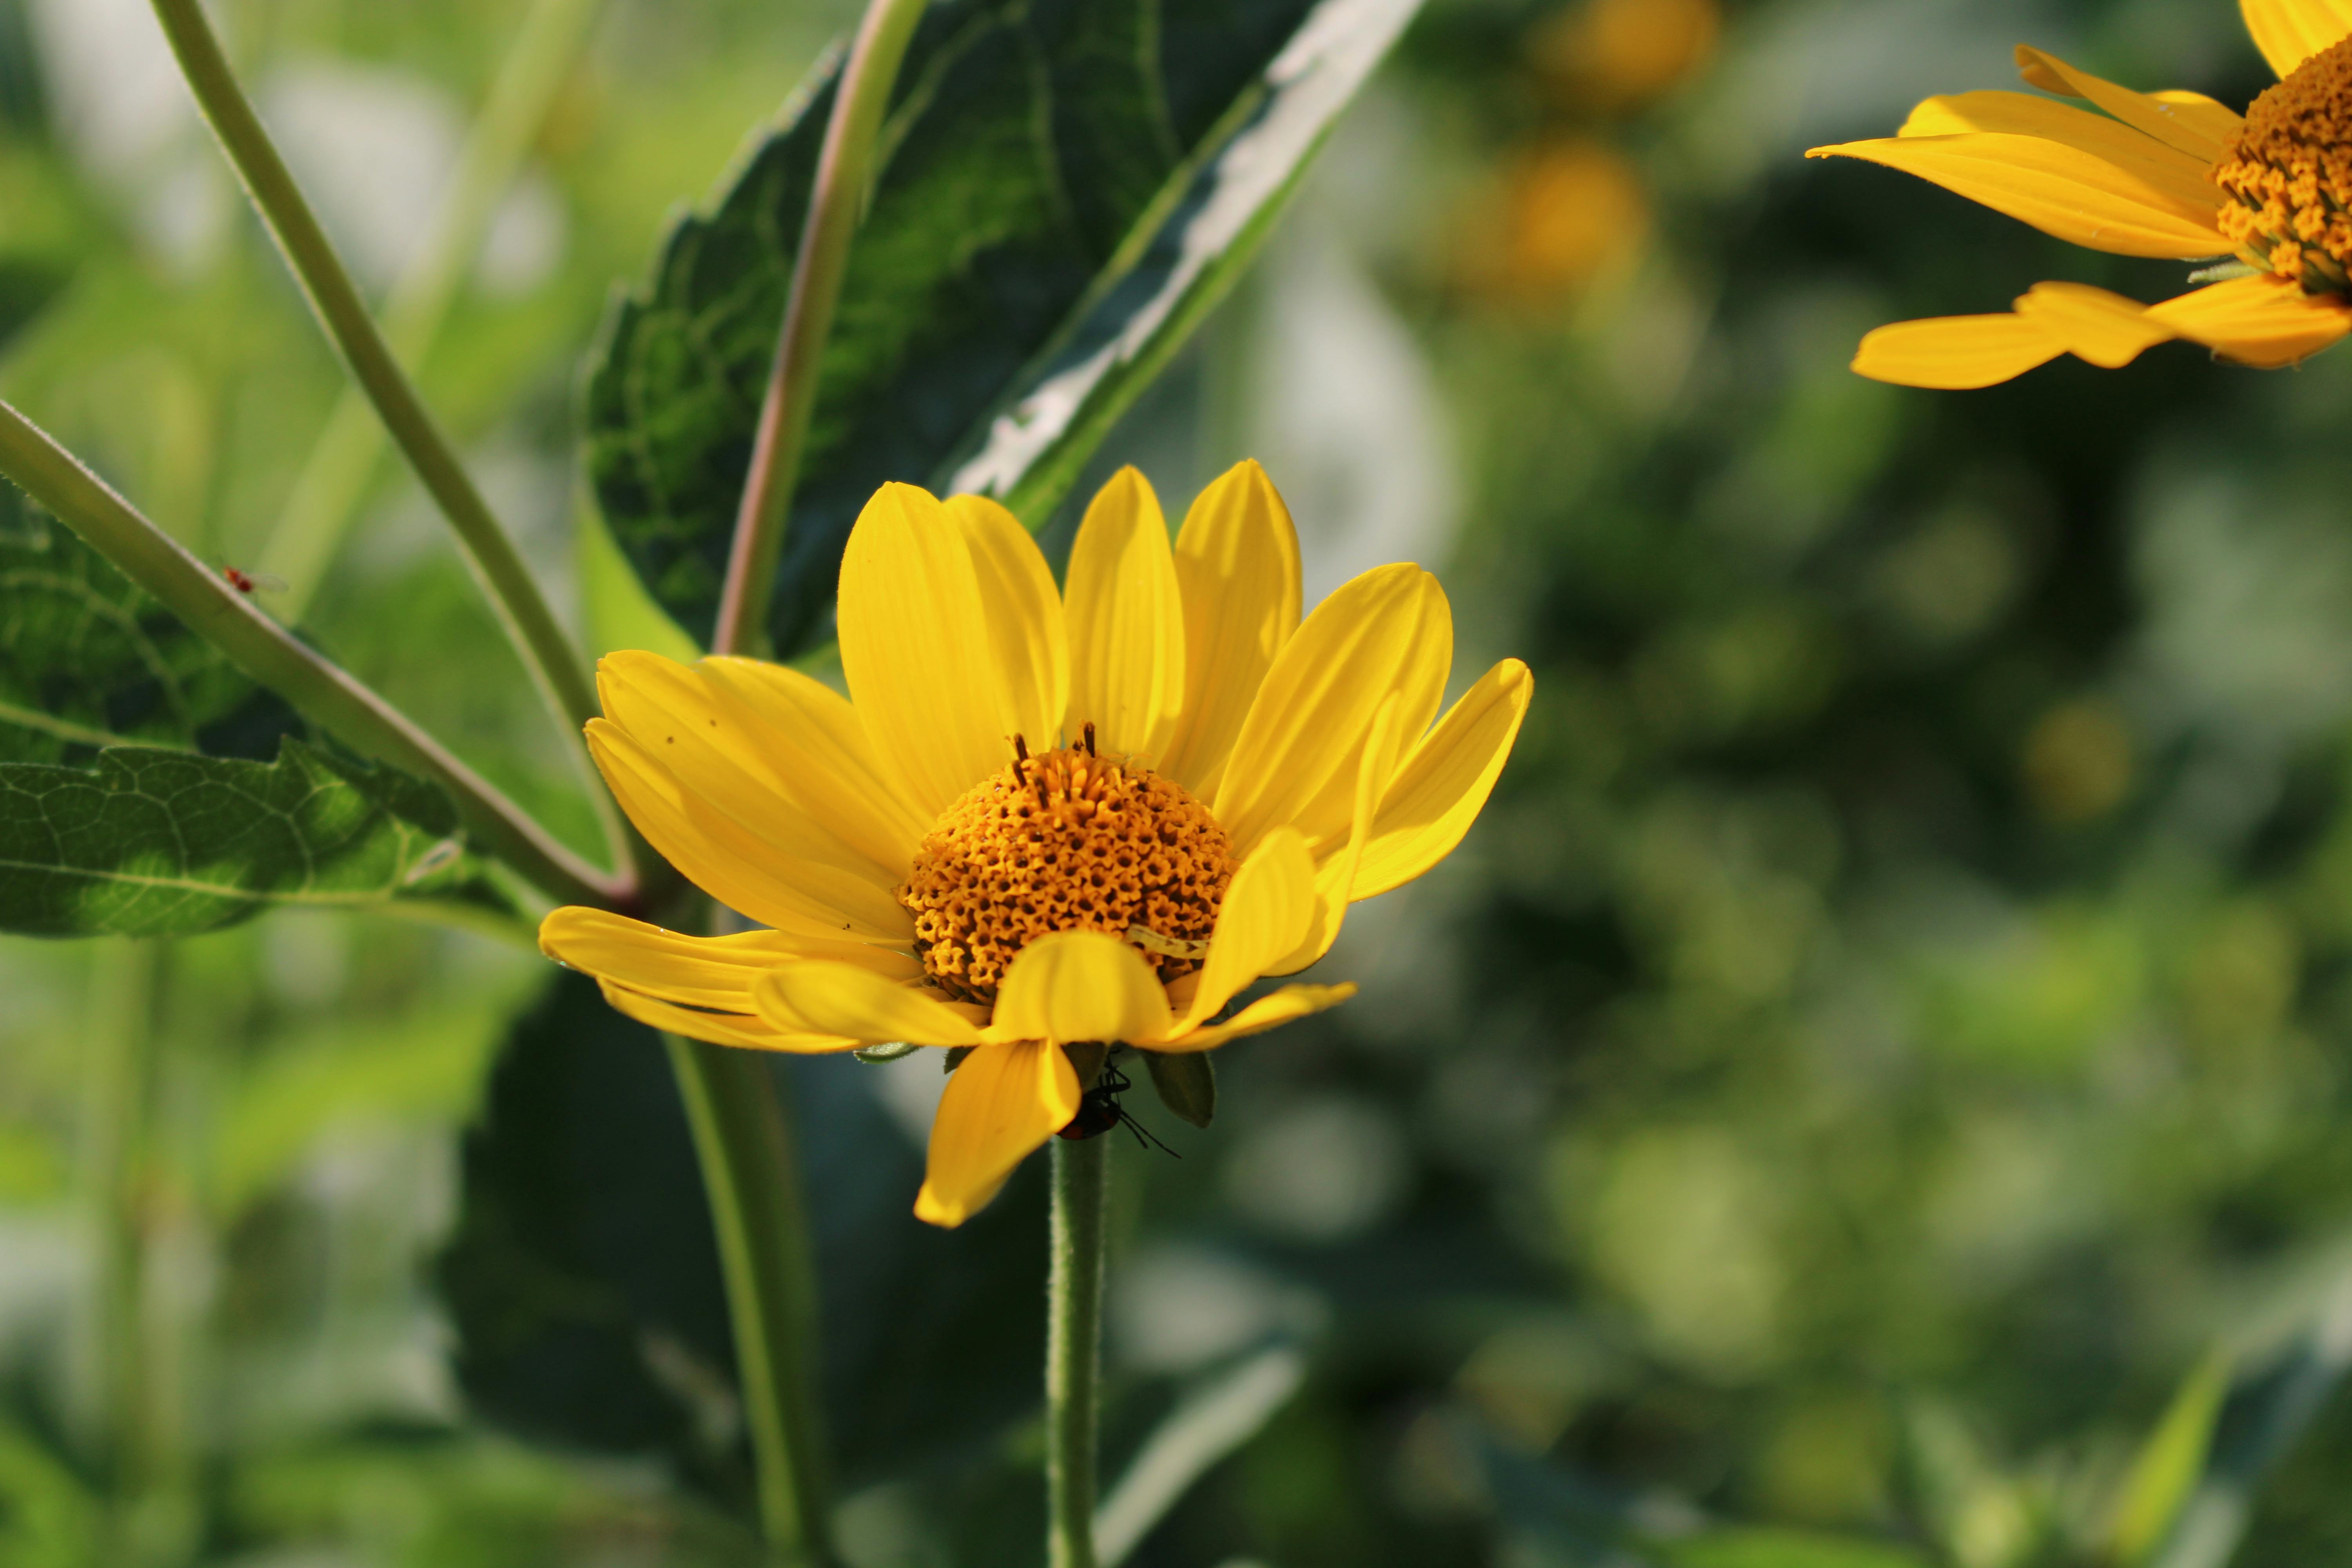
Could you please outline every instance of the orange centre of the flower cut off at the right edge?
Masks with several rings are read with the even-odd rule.
[[[2253,101],[2213,183],[2237,197],[2220,230],[2249,261],[2307,294],[2352,294],[2352,38]]]

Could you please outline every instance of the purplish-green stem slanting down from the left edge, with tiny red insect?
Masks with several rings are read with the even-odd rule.
[[[129,501],[5,402],[0,402],[0,475],[14,480],[122,576],[155,595],[198,637],[289,701],[306,719],[346,745],[423,773],[449,790],[466,830],[522,877],[574,903],[609,907],[635,898],[633,877],[604,875],[572,853],[414,719],[254,609],[219,571],[188,555],[176,538],[141,517]]]

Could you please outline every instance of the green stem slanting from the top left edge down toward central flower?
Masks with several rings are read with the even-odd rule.
[[[555,621],[555,611],[548,609],[539,583],[532,581],[522,555],[515,550],[515,541],[499,527],[489,503],[482,501],[482,491],[475,489],[466,465],[459,463],[449,437],[433,421],[416,388],[402,374],[400,362],[393,360],[393,350],[367,313],[360,289],[350,282],[350,273],[343,270],[343,261],[327,242],[327,230],[320,228],[318,214],[303,200],[294,174],[270,143],[245,89],[238,87],[238,78],[228,68],[228,56],[221,54],[221,40],[214,38],[212,24],[205,21],[205,7],[200,0],[153,0],[153,7],[158,21],[162,21],[165,38],[172,42],[172,54],[179,56],[188,92],[195,94],[198,108],[205,110],[205,120],[245,181],[254,209],[278,240],[278,249],[294,270],[303,296],[343,355],[343,364],[350,367],[353,378],[367,390],[369,402],[376,404],[383,428],[400,442],[400,451],[409,458],[416,477],[440,505],[449,527],[456,529],[459,545],[482,581],[492,607],[499,611],[506,635],[513,639],[515,651],[522,654],[534,684],[572,738],[581,769],[593,778],[586,745],[579,738],[581,726],[597,715],[595,684],[588,679],[586,661]],[[626,837],[616,839],[614,853],[633,853]]]

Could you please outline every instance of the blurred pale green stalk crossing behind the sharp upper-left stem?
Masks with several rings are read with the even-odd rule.
[[[482,254],[499,202],[546,127],[597,9],[600,0],[534,0],[524,14],[489,85],[482,113],[466,136],[433,223],[383,301],[383,341],[409,371],[423,364],[449,320],[459,284]],[[369,395],[350,383],[336,397],[327,428],[310,447],[294,491],[256,557],[261,571],[287,583],[278,599],[287,621],[301,618],[334,564],[381,456],[383,423]]]

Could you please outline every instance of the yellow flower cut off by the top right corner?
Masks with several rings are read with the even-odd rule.
[[[2025,92],[1929,99],[1896,136],[1813,148],[1929,179],[2046,235],[2119,256],[2225,259],[2225,282],[2159,306],[2042,282],[2009,315],[1896,322],[1853,369],[1969,388],[2072,353],[2117,369],[2171,339],[2279,367],[2352,331],[2352,0],[2239,0],[2279,85],[2239,118],[2194,92],[2138,94],[2018,47]],[[2192,280],[2194,282],[2194,280]]]

